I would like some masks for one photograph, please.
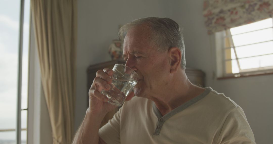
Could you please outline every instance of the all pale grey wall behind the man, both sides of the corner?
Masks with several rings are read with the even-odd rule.
[[[257,143],[273,141],[273,75],[216,80],[214,37],[207,35],[201,0],[78,1],[75,128],[87,108],[87,67],[111,60],[107,50],[118,25],[147,17],[170,17],[183,27],[186,67],[206,73],[206,86],[232,98],[245,111]]]

